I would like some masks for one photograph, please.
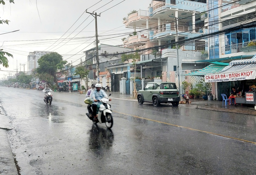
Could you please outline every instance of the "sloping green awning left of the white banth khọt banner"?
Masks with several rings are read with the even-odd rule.
[[[206,66],[202,68],[201,70],[195,71],[195,72],[190,72],[185,75],[194,75],[194,76],[203,76],[203,75],[209,75],[209,74],[214,74],[216,72],[220,72],[223,70],[224,67],[228,66],[227,65],[221,65],[221,64],[210,64],[209,66]]]

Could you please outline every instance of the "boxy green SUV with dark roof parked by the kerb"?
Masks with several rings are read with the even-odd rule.
[[[178,106],[180,95],[174,82],[148,82],[143,90],[139,90],[137,100],[139,104],[153,102],[155,107],[160,103]]]

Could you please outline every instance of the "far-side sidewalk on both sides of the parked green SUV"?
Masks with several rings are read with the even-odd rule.
[[[119,99],[119,100],[128,100],[128,101],[135,101],[137,102],[137,99],[132,98],[132,95],[126,95],[126,94],[120,94],[119,92],[111,92],[112,99]],[[181,98],[181,101],[185,101],[183,98]],[[250,115],[256,115],[256,110],[254,107],[247,107],[242,106],[241,104],[238,104],[238,106],[234,105],[227,105],[225,106],[225,103],[222,101],[216,101],[216,100],[189,100],[191,103],[189,104],[179,104],[179,107],[189,107],[189,108],[196,108],[196,109],[205,109],[205,110],[212,110],[212,111],[224,111],[224,112],[233,112],[238,114],[250,114]],[[139,104],[138,104],[139,105]]]

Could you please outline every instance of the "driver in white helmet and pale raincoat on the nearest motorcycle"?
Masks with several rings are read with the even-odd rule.
[[[95,87],[96,88],[93,89],[92,92],[90,93],[90,97],[94,100],[94,103],[92,104],[94,120],[97,119],[97,113],[99,111],[100,104],[101,104],[101,102],[98,102],[98,100],[102,98],[108,98],[108,95],[106,94],[106,92],[101,89],[102,86],[100,83],[97,83]],[[109,99],[109,101],[111,101],[111,99]]]

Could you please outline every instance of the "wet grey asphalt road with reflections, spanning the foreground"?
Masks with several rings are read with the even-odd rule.
[[[55,92],[49,106],[41,91],[0,93],[21,175],[256,172],[255,116],[113,100],[108,130],[85,116],[84,94]]]

